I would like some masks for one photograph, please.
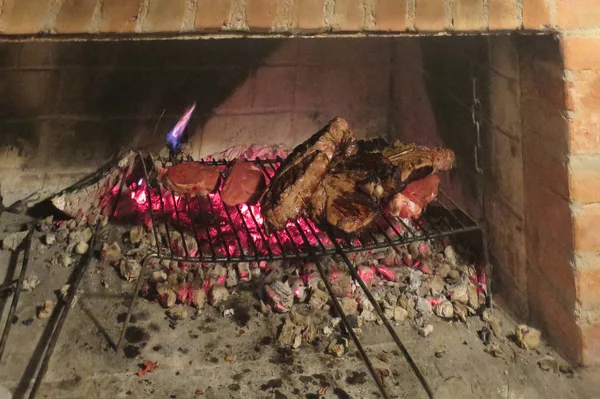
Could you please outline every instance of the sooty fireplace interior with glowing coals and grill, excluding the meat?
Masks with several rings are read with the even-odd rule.
[[[365,321],[357,306],[369,309],[369,321],[379,312],[396,321],[410,316],[427,336],[424,313],[459,321],[482,316],[493,292],[497,305],[542,331],[569,362],[582,361],[569,274],[571,210],[563,199],[564,67],[554,36],[7,42],[0,54],[4,206],[40,216],[40,204],[51,202],[71,218],[51,227],[46,219],[35,234],[66,234],[64,245],[75,253],[91,252],[68,237],[89,229],[96,244],[90,251],[133,292],[114,342],[119,349],[131,344],[138,294],[168,308],[177,324],[205,296],[220,312],[230,291],[269,276],[260,285],[260,310],[287,313],[315,298],[314,277],[330,282],[322,292],[343,299],[331,304],[346,331],[328,342],[335,356],[348,351],[354,328]],[[166,146],[192,104],[180,141]],[[156,181],[160,167],[185,160],[218,167],[224,180],[231,162],[246,157],[269,184],[296,145],[338,116],[357,139],[454,152],[454,168],[437,174],[440,192],[422,217],[384,217],[375,233],[342,237],[299,217],[271,234],[260,208],[226,206],[221,189],[189,198]],[[105,221],[92,212],[96,200],[110,209],[109,233],[91,229]],[[71,255],[53,262],[65,258]],[[445,270],[449,259],[455,264]],[[204,268],[201,276],[195,268]],[[381,297],[355,295],[359,280],[377,286]],[[402,289],[417,280],[427,285],[410,297],[394,286],[398,280]],[[441,287],[432,288],[433,281]],[[455,301],[463,288],[466,302]],[[335,294],[340,290],[348,292]],[[353,295],[356,301],[347,300]],[[398,305],[386,295],[396,295]],[[401,300],[414,303],[403,307]],[[414,315],[405,309],[411,306]],[[306,317],[292,313],[280,326],[283,346],[296,348],[322,333]],[[380,369],[367,368],[381,386]],[[431,389],[419,367],[413,371]]]

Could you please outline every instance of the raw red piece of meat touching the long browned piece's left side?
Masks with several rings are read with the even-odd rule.
[[[265,175],[254,162],[236,161],[223,184],[221,199],[225,205],[256,203],[265,189]]]

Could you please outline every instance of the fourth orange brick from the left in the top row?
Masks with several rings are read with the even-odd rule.
[[[179,32],[187,0],[150,0],[143,23],[145,32]]]

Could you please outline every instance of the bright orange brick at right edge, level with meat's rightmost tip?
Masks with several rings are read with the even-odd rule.
[[[585,204],[600,202],[600,155],[572,156],[569,166],[571,199]]]

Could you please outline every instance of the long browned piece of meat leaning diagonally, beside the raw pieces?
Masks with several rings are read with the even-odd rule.
[[[349,156],[354,152],[354,135],[341,118],[333,119],[294,148],[260,199],[267,229],[281,230],[289,220],[296,219],[310,202],[330,161],[337,154]]]

